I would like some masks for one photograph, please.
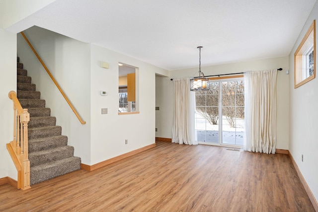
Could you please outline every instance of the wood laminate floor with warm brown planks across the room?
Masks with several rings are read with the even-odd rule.
[[[0,186],[0,211],[314,212],[288,155],[157,142],[98,170]]]

